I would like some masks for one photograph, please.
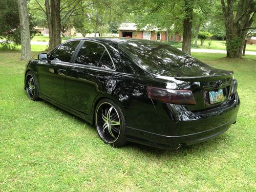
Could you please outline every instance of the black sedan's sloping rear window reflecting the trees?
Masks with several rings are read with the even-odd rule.
[[[150,72],[172,70],[177,67],[204,66],[201,61],[162,42],[133,39],[119,44],[119,48],[134,62]]]

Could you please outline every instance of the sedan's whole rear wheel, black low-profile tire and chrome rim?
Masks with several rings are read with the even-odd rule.
[[[120,147],[127,143],[123,113],[111,99],[99,101],[95,108],[94,122],[99,137],[106,144]]]

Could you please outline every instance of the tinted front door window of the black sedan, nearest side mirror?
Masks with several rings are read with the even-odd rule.
[[[66,42],[66,44],[63,44],[52,52],[50,60],[70,62],[70,59],[79,42],[79,40]]]

